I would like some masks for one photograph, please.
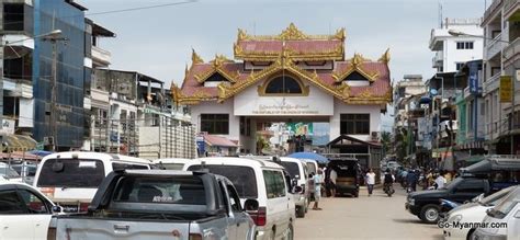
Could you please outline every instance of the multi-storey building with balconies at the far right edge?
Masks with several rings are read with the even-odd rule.
[[[518,104],[520,14],[518,0],[495,0],[483,16],[485,30],[483,94],[486,112],[485,139],[490,153],[520,153]],[[500,99],[500,78],[512,79],[512,100]],[[511,114],[515,113],[515,114]]]

